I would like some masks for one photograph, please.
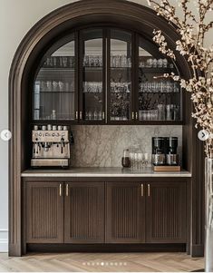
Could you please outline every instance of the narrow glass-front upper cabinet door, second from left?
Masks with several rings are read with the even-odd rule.
[[[105,118],[103,31],[101,28],[82,31],[80,41],[82,60],[79,119],[87,122],[102,122]]]

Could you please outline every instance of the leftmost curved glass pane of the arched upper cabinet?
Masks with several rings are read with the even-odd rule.
[[[34,81],[34,120],[75,119],[74,34],[53,54],[46,54]]]

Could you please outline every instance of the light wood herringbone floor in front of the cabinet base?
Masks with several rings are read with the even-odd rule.
[[[190,258],[185,253],[46,253],[21,258],[0,253],[0,272],[175,272],[198,270],[203,266],[203,258]]]

